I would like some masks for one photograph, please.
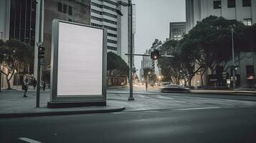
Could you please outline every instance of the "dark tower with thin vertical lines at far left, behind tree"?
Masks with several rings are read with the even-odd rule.
[[[0,0],[1,40],[17,39],[30,46],[35,43],[36,1],[34,0]],[[21,84],[24,76],[33,75],[33,64],[25,63],[24,69],[18,69],[10,84]],[[8,71],[1,65],[2,71]],[[5,75],[1,74],[1,87],[6,87]]]

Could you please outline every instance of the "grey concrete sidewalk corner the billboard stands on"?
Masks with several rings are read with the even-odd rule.
[[[88,114],[120,112],[125,109],[120,104],[107,102],[106,107],[72,107],[49,109],[49,92],[40,93],[40,107],[36,107],[36,92],[30,90],[27,97],[23,97],[22,90],[3,90],[0,92],[0,118],[3,117],[35,117],[60,114]]]

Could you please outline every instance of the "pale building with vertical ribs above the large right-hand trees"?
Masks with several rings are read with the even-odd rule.
[[[208,16],[242,21],[245,25],[256,23],[255,0],[186,0],[186,32],[196,26],[197,21]]]

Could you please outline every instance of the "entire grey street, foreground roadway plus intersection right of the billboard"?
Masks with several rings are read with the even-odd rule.
[[[123,112],[0,119],[0,142],[256,142],[253,96],[143,90],[108,89]]]

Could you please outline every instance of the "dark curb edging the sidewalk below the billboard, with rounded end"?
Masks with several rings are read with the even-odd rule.
[[[70,114],[97,114],[109,112],[121,112],[125,107],[115,109],[95,109],[83,111],[60,111],[60,112],[35,112],[35,113],[14,113],[14,114],[0,114],[1,118],[14,118],[14,117],[42,117],[42,116],[57,116],[57,115],[70,115]]]

